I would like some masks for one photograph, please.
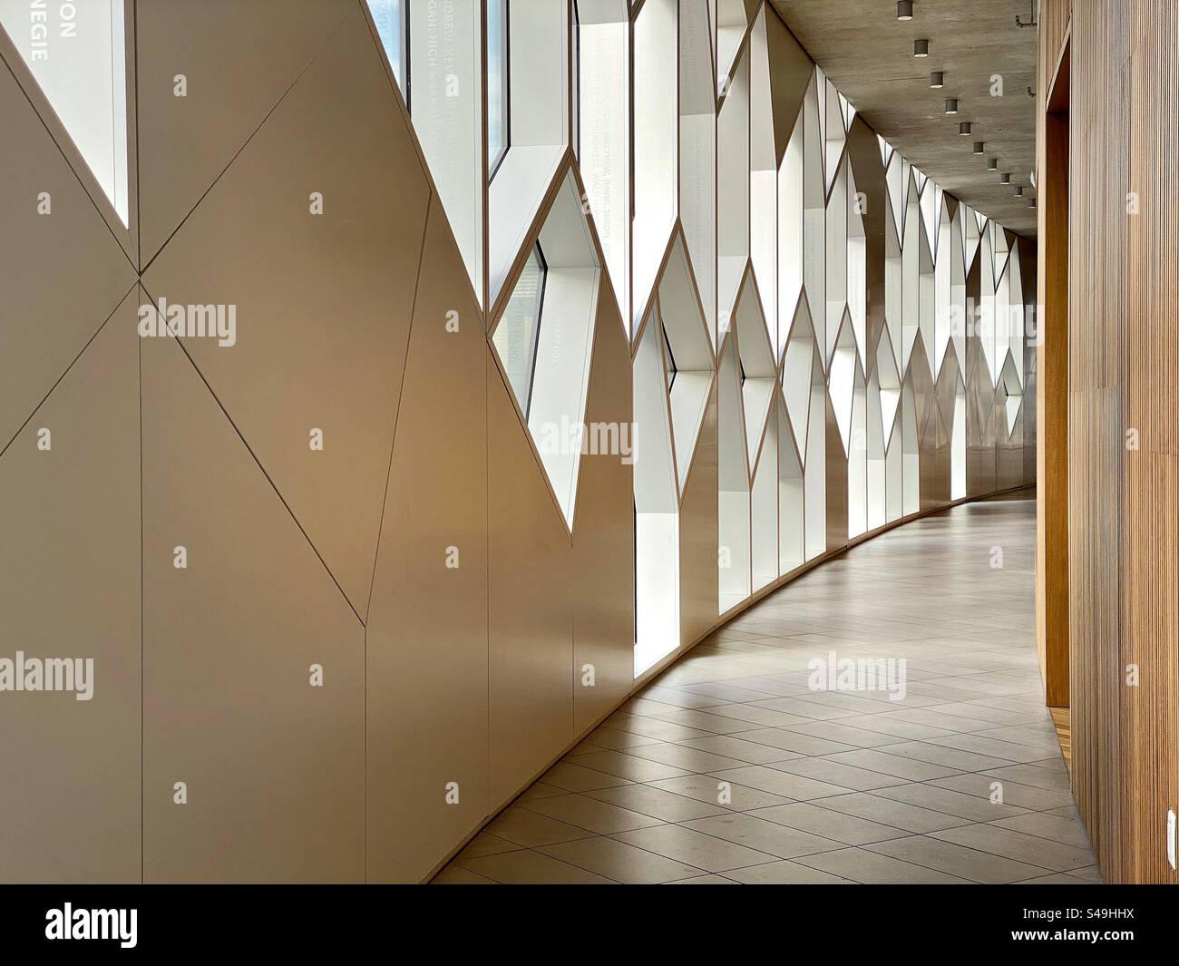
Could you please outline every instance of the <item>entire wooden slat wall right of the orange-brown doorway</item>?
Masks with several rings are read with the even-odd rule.
[[[1068,29],[1073,790],[1108,881],[1179,882],[1179,5],[1073,0]]]

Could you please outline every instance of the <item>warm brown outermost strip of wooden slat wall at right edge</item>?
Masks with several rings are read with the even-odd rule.
[[[1140,213],[1126,219],[1127,426],[1122,530],[1122,663],[1141,683],[1124,698],[1126,802],[1120,878],[1179,881],[1164,859],[1167,808],[1179,810],[1179,9],[1129,4],[1127,190]]]

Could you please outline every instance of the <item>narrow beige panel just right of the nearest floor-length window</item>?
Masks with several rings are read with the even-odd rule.
[[[641,455],[639,456],[641,459]],[[719,616],[717,382],[700,423],[696,458],[679,505],[679,639],[690,644]]]

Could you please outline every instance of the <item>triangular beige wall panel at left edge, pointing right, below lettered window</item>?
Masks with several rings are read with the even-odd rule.
[[[19,57],[19,54],[14,54]],[[0,63],[0,451],[134,284],[134,268]],[[48,195],[50,213],[38,213]]]

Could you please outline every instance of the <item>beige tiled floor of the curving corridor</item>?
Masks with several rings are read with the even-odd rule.
[[[1034,538],[1032,500],[971,504],[817,567],[627,702],[435,881],[1100,881],[1040,686]],[[832,651],[904,658],[904,699],[811,690],[808,662]]]

